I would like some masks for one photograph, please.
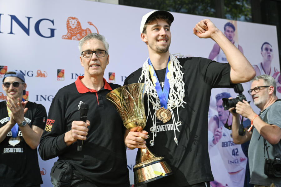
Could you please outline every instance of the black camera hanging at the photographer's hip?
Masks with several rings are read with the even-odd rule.
[[[281,158],[275,157],[273,160],[266,158],[264,160],[264,174],[268,177],[281,177]]]

